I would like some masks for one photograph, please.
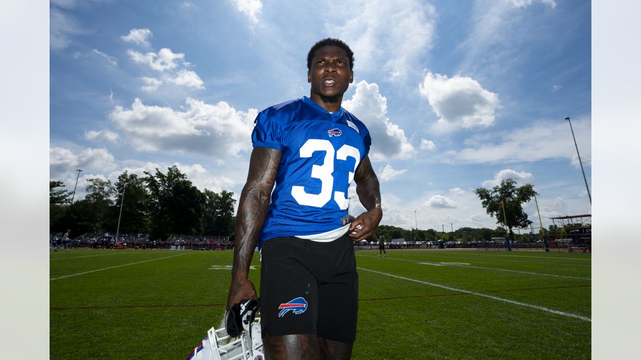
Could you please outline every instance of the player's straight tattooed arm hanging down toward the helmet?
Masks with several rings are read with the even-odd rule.
[[[249,266],[267,218],[280,158],[280,151],[267,147],[255,147],[251,152],[247,182],[238,201],[227,309],[242,299],[257,298],[254,284],[249,281]]]

